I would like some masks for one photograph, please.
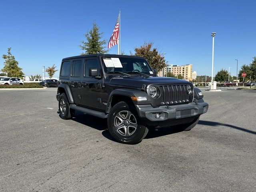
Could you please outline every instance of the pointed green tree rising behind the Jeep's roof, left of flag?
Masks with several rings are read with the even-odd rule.
[[[81,55],[107,53],[108,50],[104,49],[106,40],[101,40],[102,34],[103,33],[100,32],[99,26],[95,22],[93,22],[92,28],[88,30],[86,34],[84,34],[87,42],[82,41],[82,45],[80,45],[81,50],[85,51]]]

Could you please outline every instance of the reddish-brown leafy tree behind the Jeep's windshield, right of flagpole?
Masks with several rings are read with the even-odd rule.
[[[144,43],[144,45],[134,48],[134,55],[144,57],[157,72],[161,71],[162,68],[166,67],[165,59],[161,54],[158,53],[156,48],[152,48],[153,43]],[[130,55],[133,55],[130,52]]]

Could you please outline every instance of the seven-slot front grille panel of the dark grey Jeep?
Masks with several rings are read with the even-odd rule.
[[[152,106],[188,104],[192,97],[188,94],[188,84],[154,85],[160,90],[159,98],[152,98]],[[151,86],[150,86],[151,87]],[[193,86],[190,85],[193,90]]]

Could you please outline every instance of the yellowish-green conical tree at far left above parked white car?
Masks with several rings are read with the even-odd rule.
[[[15,57],[11,54],[11,48],[8,48],[7,55],[4,54],[2,58],[4,59],[4,68],[2,68],[2,72],[7,73],[8,77],[19,77],[22,78],[24,73],[21,71],[18,65],[18,61],[15,60]]]

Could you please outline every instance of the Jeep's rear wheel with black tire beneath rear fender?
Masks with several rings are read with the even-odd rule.
[[[60,111],[60,118],[62,119],[71,119],[74,116],[75,110],[70,109],[68,98],[65,93],[60,95],[59,99],[59,111]]]

